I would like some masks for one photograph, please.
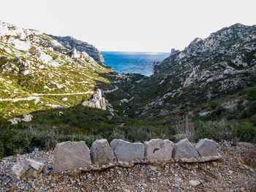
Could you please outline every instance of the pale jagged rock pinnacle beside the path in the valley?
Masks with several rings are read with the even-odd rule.
[[[88,101],[83,101],[82,104],[83,106],[106,110],[105,98],[102,97],[102,91],[99,88]]]

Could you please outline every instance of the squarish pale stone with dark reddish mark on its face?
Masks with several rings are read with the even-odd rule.
[[[172,158],[173,145],[168,139],[151,139],[144,142],[145,158],[148,161],[169,161]]]

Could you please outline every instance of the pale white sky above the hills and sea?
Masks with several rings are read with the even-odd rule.
[[[255,0],[1,0],[0,20],[99,50],[169,53],[235,23],[255,25],[255,7]]]

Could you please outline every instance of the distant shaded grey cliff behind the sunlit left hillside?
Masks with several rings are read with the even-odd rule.
[[[97,50],[96,47],[93,45],[89,45],[87,42],[82,42],[78,39],[75,39],[73,37],[67,36],[67,37],[57,37],[53,35],[48,35],[52,37],[53,39],[56,39],[61,45],[68,48],[69,50],[73,50],[74,48],[78,50],[79,52],[86,52],[89,56],[94,58],[95,61],[103,62],[104,58],[100,54],[99,50]]]

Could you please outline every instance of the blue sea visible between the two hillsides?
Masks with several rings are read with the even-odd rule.
[[[170,53],[101,51],[104,64],[119,73],[140,73],[151,75],[154,61],[162,61]]]

